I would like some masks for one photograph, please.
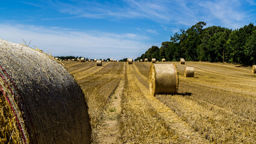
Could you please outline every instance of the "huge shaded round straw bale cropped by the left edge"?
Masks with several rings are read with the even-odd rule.
[[[84,94],[53,57],[0,40],[0,143],[90,143]]]

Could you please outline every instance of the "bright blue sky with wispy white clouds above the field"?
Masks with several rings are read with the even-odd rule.
[[[256,1],[1,0],[0,38],[53,56],[136,58],[204,21],[230,29],[256,23]]]

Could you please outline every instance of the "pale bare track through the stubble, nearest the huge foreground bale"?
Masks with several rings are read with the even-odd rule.
[[[107,110],[103,115],[102,124],[97,130],[97,143],[117,143],[118,137],[120,137],[120,131],[118,128],[118,119],[121,112],[121,95],[124,89],[124,73],[125,67],[123,67],[123,73],[114,94],[111,95]]]

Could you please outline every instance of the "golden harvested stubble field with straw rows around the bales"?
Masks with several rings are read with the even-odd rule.
[[[85,94],[92,143],[255,143],[256,74],[233,64],[174,63],[178,93],[150,94],[150,62],[63,62]],[[162,64],[162,62],[156,62]],[[185,77],[194,67],[194,77]]]

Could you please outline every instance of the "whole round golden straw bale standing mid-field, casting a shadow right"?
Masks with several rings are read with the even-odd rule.
[[[178,71],[175,64],[151,64],[150,94],[177,94]]]

